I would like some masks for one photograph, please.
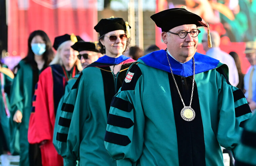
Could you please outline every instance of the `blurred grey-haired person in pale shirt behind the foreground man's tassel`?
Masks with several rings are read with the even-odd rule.
[[[215,58],[221,63],[226,64],[229,71],[228,81],[231,85],[237,86],[239,83],[239,77],[233,57],[220,49],[220,35],[218,32],[211,31],[210,34],[212,38],[212,48],[209,48],[207,45],[207,33],[203,34],[202,45],[203,50],[205,51],[205,55]]]

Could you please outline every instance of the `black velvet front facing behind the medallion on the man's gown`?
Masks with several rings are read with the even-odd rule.
[[[195,119],[188,122],[181,117],[181,110],[184,106],[171,73],[168,73],[168,77],[177,132],[179,165],[205,166],[203,123],[196,83],[194,84],[193,100],[191,105],[192,109],[195,111]],[[185,105],[189,106],[193,76],[185,78],[174,75],[174,77],[177,81]]]

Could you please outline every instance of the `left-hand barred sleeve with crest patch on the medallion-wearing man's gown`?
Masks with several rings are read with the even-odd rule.
[[[140,69],[134,66],[137,65],[129,70],[134,73],[131,82],[123,83],[111,102],[108,114],[104,144],[109,155],[117,160],[118,166],[134,165],[143,149],[143,77]],[[124,84],[133,84],[134,89]]]

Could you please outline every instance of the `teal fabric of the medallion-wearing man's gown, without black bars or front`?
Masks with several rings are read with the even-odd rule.
[[[107,124],[106,131],[128,136],[126,146],[104,142],[119,166],[179,165],[177,134],[168,73],[146,66],[138,60],[142,75],[135,88],[119,90],[116,97],[133,105],[131,112],[110,107],[109,114],[129,118],[134,125],[122,128]],[[135,64],[133,64],[135,65]],[[217,68],[226,71],[226,65]],[[227,73],[226,73],[227,74]],[[134,79],[134,78],[132,78]],[[212,69],[195,75],[202,116],[206,166],[223,166],[221,147],[236,154],[242,132],[239,124],[251,113],[235,117],[235,106],[246,104],[245,98],[234,102],[233,91],[226,78]],[[123,83],[124,86],[125,82]],[[179,96],[177,96],[179,98]],[[202,159],[204,160],[204,159]]]

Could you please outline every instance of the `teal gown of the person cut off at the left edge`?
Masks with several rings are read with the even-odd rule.
[[[9,97],[10,88],[13,80],[13,73],[7,69],[7,66],[0,67],[0,155],[3,154],[3,149],[10,150],[10,111],[9,111]]]

